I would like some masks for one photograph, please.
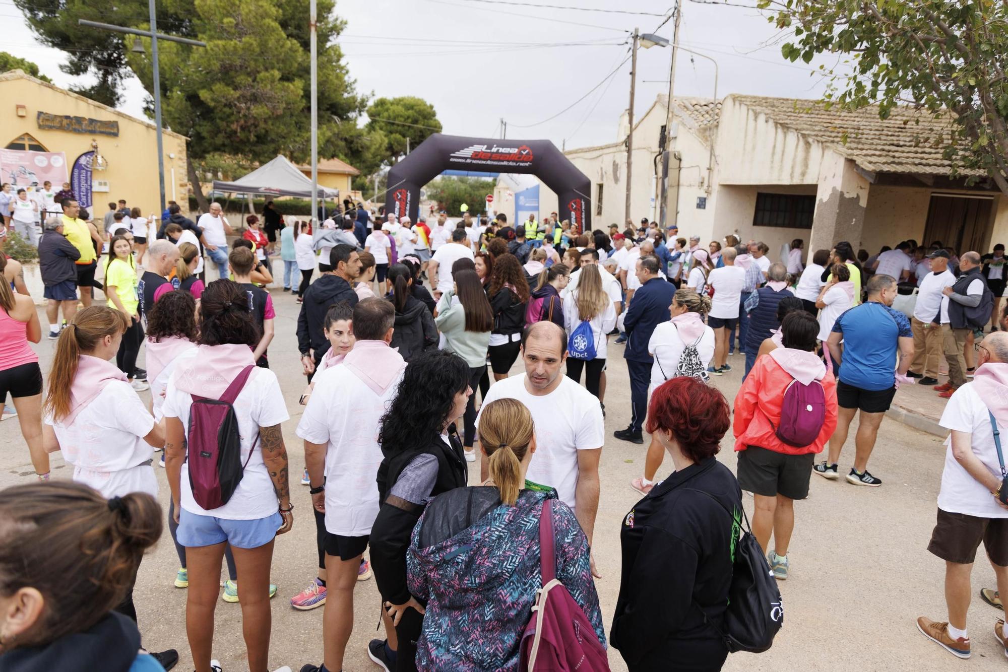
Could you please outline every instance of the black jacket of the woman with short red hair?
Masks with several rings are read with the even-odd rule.
[[[701,608],[716,622],[728,608],[741,518],[738,481],[709,457],[656,485],[623,519],[609,642],[630,670],[664,670],[683,657],[697,669],[720,668],[728,649]]]

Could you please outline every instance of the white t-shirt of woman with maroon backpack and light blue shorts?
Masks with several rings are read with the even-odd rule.
[[[196,357],[196,354],[197,351],[194,349],[180,355],[176,361],[191,359]],[[193,397],[177,388],[177,374],[176,370],[168,378],[161,412],[166,418],[181,420],[187,436]],[[206,511],[193,498],[188,463],[183,462],[180,480],[181,506],[185,511],[200,516],[214,516],[225,520],[259,520],[272,516],[278,508],[273,482],[262,459],[262,445],[258,440],[259,427],[272,427],[290,418],[276,374],[269,369],[254,368],[245,387],[235,399],[234,408],[238,418],[238,431],[242,437],[242,463],[245,464],[245,460],[248,460],[241,483],[227,504]]]

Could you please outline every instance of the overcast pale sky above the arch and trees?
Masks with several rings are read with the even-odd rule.
[[[445,132],[454,135],[499,137],[503,117],[508,138],[548,138],[557,146],[565,142],[568,148],[615,141],[619,116],[629,103],[629,61],[571,110],[540,122],[602,83],[629,55],[625,42],[630,32],[635,27],[654,32],[672,0],[514,3],[338,0],[336,11],[347,20],[340,43],[358,91],[423,98],[433,104]],[[648,15],[529,4],[618,8]],[[682,12],[680,43],[717,60],[719,98],[729,93],[816,98],[826,85],[818,74],[812,75],[813,69],[820,62],[837,62],[836,57],[811,65],[784,60],[780,36],[755,9],[686,0]],[[57,66],[65,54],[35,41],[12,0],[0,0],[0,19],[5,23],[0,49],[35,61],[58,85],[73,81]],[[671,39],[672,25],[668,20],[657,33]],[[659,93],[667,93],[670,56],[668,47],[639,50],[638,116]],[[122,109],[140,116],[144,95],[132,80]],[[690,54],[681,52],[675,95],[712,97],[711,61],[700,56],[690,61]]]

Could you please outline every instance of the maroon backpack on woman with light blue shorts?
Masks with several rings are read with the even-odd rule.
[[[242,437],[233,404],[253,369],[251,364],[245,367],[220,399],[192,395],[186,456],[190,487],[193,499],[208,511],[223,507],[235,494],[259,440],[257,435],[243,464]]]

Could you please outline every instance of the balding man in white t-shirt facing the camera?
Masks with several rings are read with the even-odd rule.
[[[574,509],[591,544],[599,510],[599,458],[606,440],[602,406],[591,392],[563,375],[566,333],[553,322],[538,321],[525,329],[521,360],[525,373],[491,385],[481,412],[495,399],[517,399],[528,408],[539,447],[526,479],[556,491]],[[480,416],[476,424],[479,428]],[[488,469],[483,459],[484,480]],[[594,570],[594,560],[592,566]]]

